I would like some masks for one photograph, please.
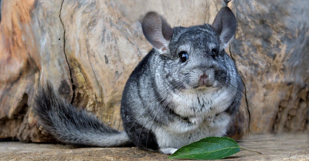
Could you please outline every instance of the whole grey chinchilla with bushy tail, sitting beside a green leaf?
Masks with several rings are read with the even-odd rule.
[[[225,47],[236,29],[228,7],[214,22],[171,28],[148,12],[142,31],[153,49],[137,65],[122,94],[124,131],[67,103],[47,82],[36,94],[39,124],[73,145],[138,148],[170,155],[207,136],[223,136],[237,113],[243,83]]]

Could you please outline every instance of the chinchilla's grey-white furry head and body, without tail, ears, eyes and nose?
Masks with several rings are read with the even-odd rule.
[[[234,16],[227,7],[219,13],[221,17]],[[146,15],[143,22],[154,19],[149,15],[159,19],[157,14]],[[225,26],[229,19],[235,17],[218,20]],[[225,135],[243,94],[241,77],[223,48],[228,41],[221,39],[226,35],[231,38],[233,25],[225,32],[209,24],[174,27],[171,39],[156,42],[167,45],[154,46],[138,64],[125,85],[121,104],[125,130],[135,145],[170,154],[203,137]],[[151,32],[144,34],[156,37]],[[215,58],[210,55],[213,49]],[[179,58],[182,51],[188,53],[184,63]],[[208,76],[205,85],[200,83],[202,74]]]

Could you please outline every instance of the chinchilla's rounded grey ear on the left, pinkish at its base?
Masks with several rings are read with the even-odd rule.
[[[142,29],[146,39],[153,47],[161,51],[167,50],[173,29],[159,14],[148,12],[143,18]]]

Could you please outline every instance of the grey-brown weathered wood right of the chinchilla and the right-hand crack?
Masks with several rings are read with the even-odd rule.
[[[252,132],[309,132],[309,1],[229,2]]]

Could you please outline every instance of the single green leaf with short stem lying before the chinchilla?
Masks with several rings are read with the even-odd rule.
[[[222,159],[240,151],[237,142],[228,137],[206,137],[185,145],[169,159]]]

